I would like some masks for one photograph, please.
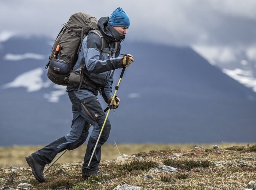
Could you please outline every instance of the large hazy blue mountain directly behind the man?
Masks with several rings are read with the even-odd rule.
[[[1,42],[0,146],[48,144],[69,132],[65,86],[46,76],[52,44],[38,36]],[[127,40],[121,53],[134,62],[117,92],[119,108],[109,114],[108,143],[255,141],[256,93],[192,48]]]

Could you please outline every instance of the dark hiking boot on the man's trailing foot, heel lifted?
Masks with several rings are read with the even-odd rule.
[[[44,174],[43,174],[44,167],[38,164],[35,161],[35,159],[33,159],[32,155],[29,155],[28,157],[26,157],[26,160],[27,160],[28,166],[31,167],[35,178],[40,182],[44,182],[45,181]]]

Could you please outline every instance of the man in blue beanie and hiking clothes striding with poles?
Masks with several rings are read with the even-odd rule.
[[[71,131],[26,157],[34,176],[40,182],[45,181],[43,174],[45,165],[51,163],[59,152],[65,149],[73,150],[78,148],[86,141],[90,124],[93,126],[93,130],[86,148],[82,166],[82,178],[86,179],[92,175],[101,174],[99,170],[101,146],[108,140],[111,124],[107,119],[96,151],[92,156],[91,153],[106,117],[97,99],[97,95],[102,95],[105,102],[110,104],[113,97],[112,83],[114,70],[128,67],[133,62],[133,56],[126,54],[123,57],[119,57],[120,42],[124,40],[126,31],[130,26],[129,16],[122,8],[115,9],[110,17],[100,18],[97,26],[104,35],[104,49],[111,50],[111,53],[101,51],[101,37],[96,33],[89,33],[83,39],[79,57],[73,69],[85,62],[85,67],[82,69],[86,78],[83,80],[79,90],[79,85],[77,84],[68,83],[67,85],[73,113]],[[119,106],[119,100],[118,97],[113,100],[113,109]],[[88,169],[87,166],[91,156],[90,169]]]

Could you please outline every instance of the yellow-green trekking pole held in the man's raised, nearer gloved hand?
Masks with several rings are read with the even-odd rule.
[[[124,73],[124,71],[125,71],[125,68],[126,68],[126,67],[123,68],[123,70],[122,70],[122,72],[121,72],[121,75],[120,75],[120,78],[119,78],[119,81],[118,81],[117,85],[115,86],[115,93],[114,93],[114,95],[113,95],[113,97],[112,97],[112,100],[111,100],[110,104],[108,105],[108,112],[107,112],[106,118],[105,118],[105,120],[104,120],[104,123],[103,123],[103,125],[102,125],[102,127],[101,127],[101,132],[100,132],[100,134],[99,134],[99,137],[98,137],[98,139],[97,139],[97,142],[96,142],[96,144],[95,144],[95,146],[94,146],[93,153],[92,153],[92,155],[91,155],[90,161],[89,161],[89,163],[88,163],[88,166],[86,167],[87,169],[90,169],[90,164],[91,164],[91,161],[92,161],[92,159],[93,159],[93,155],[94,155],[94,153],[95,153],[95,151],[96,151],[97,145],[98,145],[99,140],[100,140],[100,138],[101,138],[101,133],[102,133],[102,131],[103,131],[103,129],[104,129],[104,126],[105,126],[105,124],[106,124],[106,122],[107,122],[108,115],[109,115],[109,112],[110,112],[110,110],[111,110],[111,108],[112,108],[113,101],[115,100],[115,95],[116,95],[117,90],[118,90],[118,88],[119,88],[119,84],[120,84],[120,82],[121,82],[121,80],[122,80],[122,78],[123,78],[123,73]]]

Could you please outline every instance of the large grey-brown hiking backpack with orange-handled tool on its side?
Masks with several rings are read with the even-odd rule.
[[[55,84],[66,86],[64,81],[75,65],[83,38],[93,30],[101,36],[101,49],[104,49],[104,37],[97,27],[98,20],[88,13],[75,13],[70,16],[58,34],[49,56],[47,76]]]

